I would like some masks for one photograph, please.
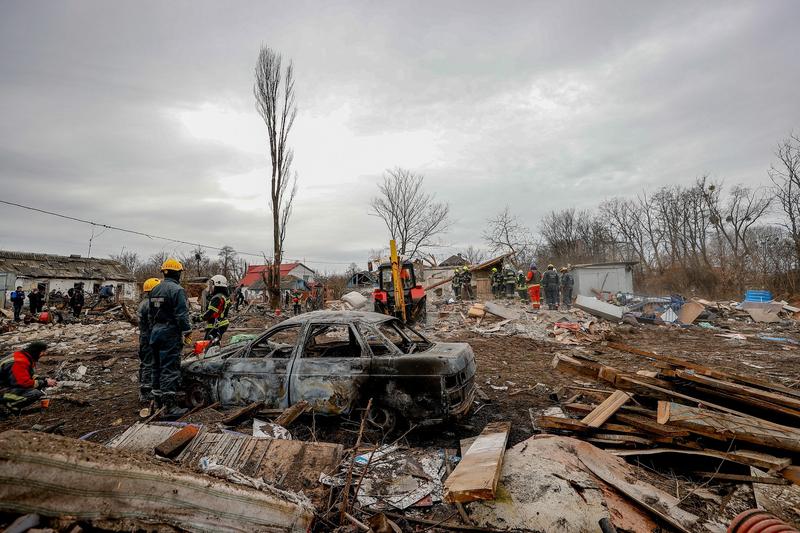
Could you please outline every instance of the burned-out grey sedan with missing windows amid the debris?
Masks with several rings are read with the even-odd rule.
[[[373,425],[398,416],[432,425],[465,416],[475,395],[475,354],[466,343],[426,339],[394,317],[315,311],[281,322],[246,343],[182,363],[188,403],[348,414],[369,398]]]

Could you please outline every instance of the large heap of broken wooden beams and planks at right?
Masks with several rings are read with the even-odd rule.
[[[670,458],[670,468],[706,484],[779,486],[778,503],[773,498],[775,509],[768,509],[800,521],[798,507],[785,505],[800,502],[800,391],[788,386],[793,378],[781,383],[620,343],[607,347],[652,370],[622,371],[578,352],[556,355],[552,366],[580,385],[559,391],[560,411],[532,414],[536,429],[618,456]],[[785,508],[777,509],[781,502]]]

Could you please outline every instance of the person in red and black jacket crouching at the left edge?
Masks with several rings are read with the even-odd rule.
[[[0,403],[11,413],[19,411],[44,396],[42,389],[55,387],[51,378],[36,375],[36,362],[47,350],[47,343],[33,341],[24,349],[0,359]]]

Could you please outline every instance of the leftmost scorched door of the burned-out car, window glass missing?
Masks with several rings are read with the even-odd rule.
[[[230,357],[217,382],[222,405],[264,402],[268,408],[288,407],[287,370],[300,345],[302,324],[276,326]]]

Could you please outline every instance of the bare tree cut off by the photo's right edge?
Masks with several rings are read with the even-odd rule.
[[[778,143],[777,163],[769,170],[775,198],[786,218],[781,222],[794,243],[795,260],[800,265],[800,136],[793,133]]]

